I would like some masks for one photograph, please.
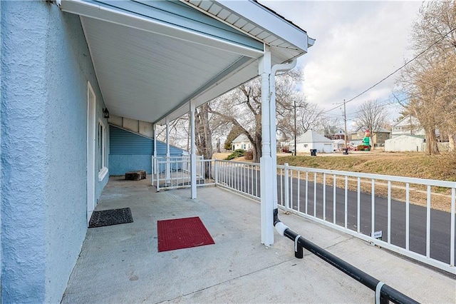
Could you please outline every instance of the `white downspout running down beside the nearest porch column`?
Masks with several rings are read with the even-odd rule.
[[[277,178],[276,178],[276,168],[277,168],[277,139],[276,139],[276,72],[277,71],[289,71],[294,69],[298,61],[293,59],[288,64],[275,64],[271,68],[271,78],[269,81],[269,94],[271,99],[269,101],[269,136],[271,141],[271,158],[272,158],[272,168],[273,168],[273,186],[272,186],[272,200],[273,200],[273,209],[277,209]],[[296,149],[296,148],[295,148]],[[288,190],[286,190],[288,191]]]

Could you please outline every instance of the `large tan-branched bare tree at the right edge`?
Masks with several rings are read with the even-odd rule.
[[[425,129],[426,152],[438,154],[435,130],[456,139],[456,2],[431,1],[413,24],[411,49],[418,57],[403,69],[400,83],[408,91],[408,111]]]

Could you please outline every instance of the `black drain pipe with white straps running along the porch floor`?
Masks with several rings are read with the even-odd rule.
[[[281,223],[281,221],[279,220],[279,211],[278,209],[274,209],[274,226],[276,226],[277,223]],[[318,245],[315,245],[311,241],[306,240],[298,233],[295,233],[290,228],[284,226],[283,223],[281,223],[281,226],[282,228],[284,228],[283,235],[289,238],[290,240],[293,240],[295,243],[294,255],[296,258],[303,258],[303,248],[306,248],[311,253],[314,253],[316,256],[318,256],[318,258],[325,260],[327,263],[333,265],[338,270],[341,270],[343,273],[346,273],[347,275],[351,276],[351,278],[354,278],[355,280],[370,288],[371,290],[377,290],[379,283],[381,283],[380,280],[377,280],[372,275],[368,275],[362,270],[347,263],[345,260],[338,258],[336,255],[329,253],[328,251],[324,250]],[[412,298],[409,298],[407,295],[404,295],[403,293],[400,293],[398,290],[395,290],[394,288],[382,283],[382,285],[380,285],[380,303],[388,303],[388,301],[391,301],[393,303],[418,303]]]

